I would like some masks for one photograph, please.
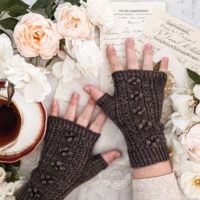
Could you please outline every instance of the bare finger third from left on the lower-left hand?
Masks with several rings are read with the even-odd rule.
[[[95,106],[95,101],[90,98],[87,105],[83,108],[82,113],[79,115],[77,119],[77,124],[87,127],[92,117]]]

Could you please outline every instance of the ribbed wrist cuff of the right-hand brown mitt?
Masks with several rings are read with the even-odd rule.
[[[146,167],[159,162],[169,160],[166,143],[159,143],[141,150],[128,150],[129,160],[132,168]]]

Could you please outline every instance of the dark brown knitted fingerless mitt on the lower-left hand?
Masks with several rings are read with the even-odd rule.
[[[38,167],[17,200],[61,200],[88,181],[107,163],[92,156],[100,134],[71,121],[49,117],[45,144]]]

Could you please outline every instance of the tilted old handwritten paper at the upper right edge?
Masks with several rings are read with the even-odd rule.
[[[200,29],[155,9],[138,40],[139,55],[147,42],[153,44],[155,53],[168,47],[182,67],[200,74]]]

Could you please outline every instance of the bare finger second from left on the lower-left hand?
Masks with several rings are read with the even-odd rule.
[[[78,107],[78,102],[80,99],[80,95],[78,93],[73,93],[71,100],[69,102],[68,108],[67,108],[67,112],[65,114],[65,119],[69,120],[69,121],[74,121],[75,117],[76,117],[76,110]]]

